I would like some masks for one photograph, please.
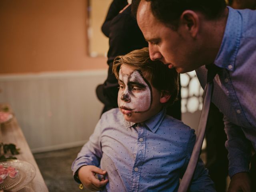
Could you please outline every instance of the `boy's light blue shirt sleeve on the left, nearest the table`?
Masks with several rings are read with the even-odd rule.
[[[84,144],[81,151],[78,153],[77,158],[72,163],[72,171],[74,179],[80,182],[77,177],[77,171],[80,167],[85,165],[100,165],[100,159],[102,157],[101,150],[101,130],[102,130],[102,119],[96,125],[93,134],[90,136],[89,141]]]

